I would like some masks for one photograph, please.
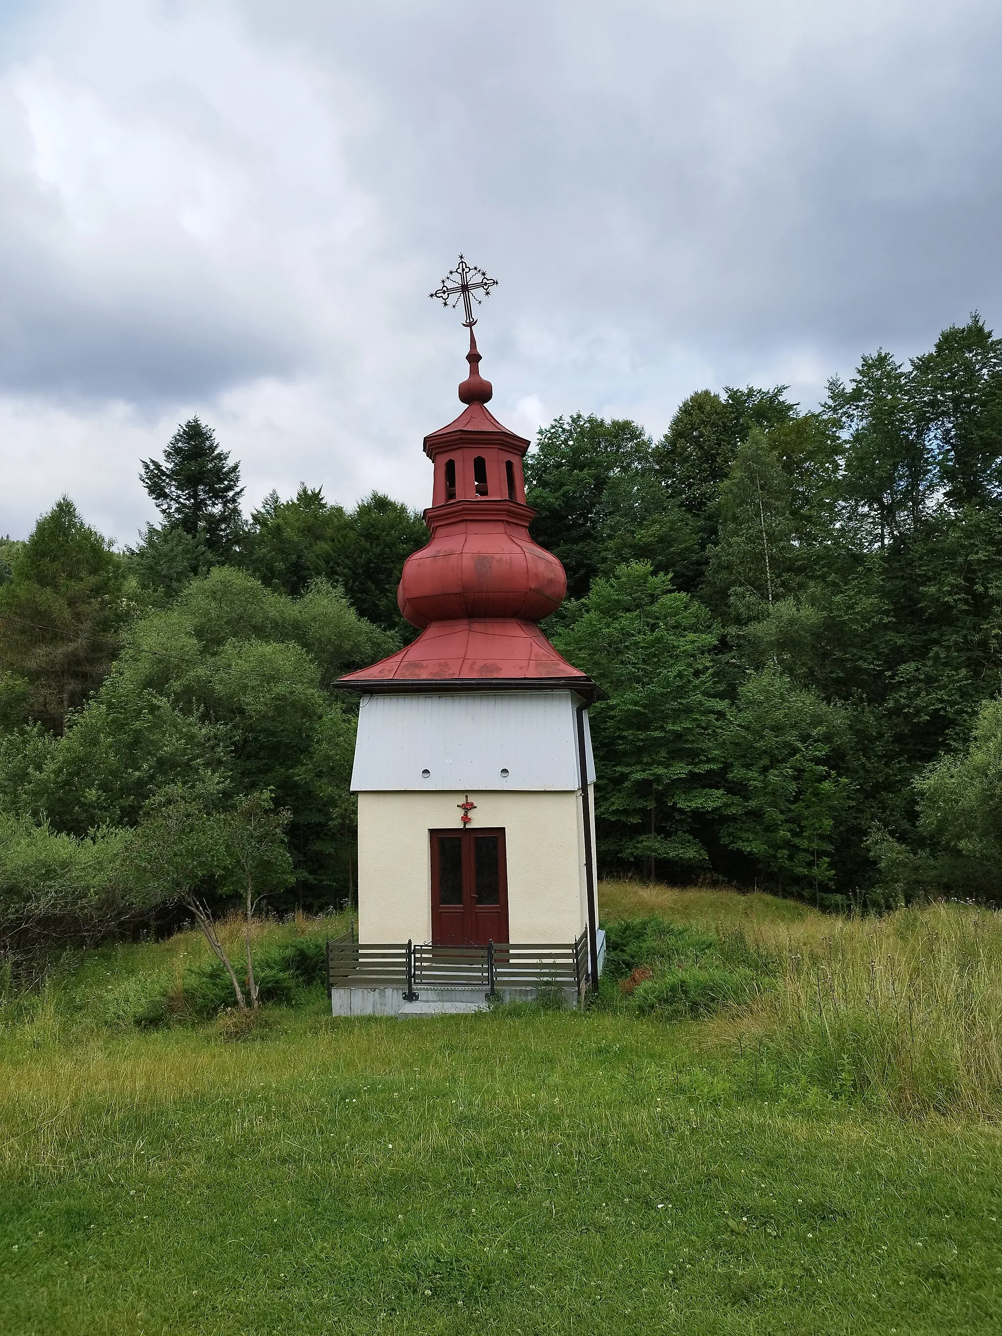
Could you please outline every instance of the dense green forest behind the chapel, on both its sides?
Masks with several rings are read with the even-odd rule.
[[[67,497],[0,540],[8,947],[235,894],[255,840],[281,844],[273,903],[353,894],[333,684],[414,635],[395,587],[424,521],[306,485],[247,516],[198,418],[142,480],[160,524],[135,548]],[[977,315],[814,411],[749,386],[689,395],[657,441],[557,418],[526,482],[568,574],[545,629],[607,697],[603,870],[830,908],[998,898],[1002,339]]]

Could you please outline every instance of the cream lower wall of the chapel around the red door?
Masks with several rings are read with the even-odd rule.
[[[588,922],[580,790],[469,796],[477,804],[472,828],[505,828],[510,939],[572,942],[580,937]],[[464,798],[462,792],[358,795],[361,942],[432,941],[428,832],[460,830],[457,804]]]

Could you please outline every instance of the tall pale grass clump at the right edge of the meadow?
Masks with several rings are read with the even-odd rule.
[[[787,933],[745,1014],[810,1078],[904,1114],[1002,1113],[1002,915],[962,904]]]

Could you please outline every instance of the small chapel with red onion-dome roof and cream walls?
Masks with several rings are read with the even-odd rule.
[[[359,719],[358,943],[573,943],[599,973],[588,705],[596,685],[538,623],[566,592],[529,536],[529,442],[488,409],[469,329],[462,410],[425,437],[430,541],[399,581],[420,635],[347,673]],[[489,283],[492,281],[488,281]],[[433,295],[441,295],[433,294]]]

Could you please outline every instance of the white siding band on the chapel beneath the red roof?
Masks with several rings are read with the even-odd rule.
[[[577,703],[569,691],[363,696],[351,788],[580,788]],[[587,716],[585,747],[591,783]]]

